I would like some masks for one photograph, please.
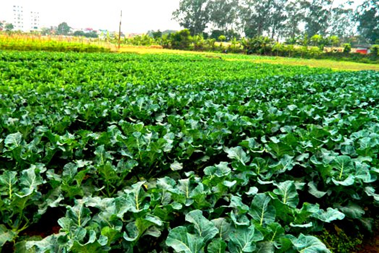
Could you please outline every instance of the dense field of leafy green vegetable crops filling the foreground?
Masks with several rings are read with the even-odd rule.
[[[378,72],[0,52],[0,247],[329,252],[373,225],[378,115]]]

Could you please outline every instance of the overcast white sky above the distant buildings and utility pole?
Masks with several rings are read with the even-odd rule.
[[[148,30],[179,30],[171,20],[180,0],[0,0],[0,20],[11,22],[12,6],[23,5],[27,11],[39,11],[40,25],[58,26],[67,22],[73,28],[118,30],[122,9],[124,33],[146,33]],[[335,0],[342,2],[343,0]],[[354,0],[360,3],[362,0]],[[103,2],[103,3],[101,3]]]

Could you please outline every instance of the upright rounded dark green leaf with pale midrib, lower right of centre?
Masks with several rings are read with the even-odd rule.
[[[265,193],[259,193],[251,203],[249,214],[261,226],[275,221],[276,211],[273,206],[268,205],[270,201],[271,198]]]

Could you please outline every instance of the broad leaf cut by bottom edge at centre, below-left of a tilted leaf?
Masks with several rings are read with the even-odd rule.
[[[204,239],[198,235],[187,232],[186,227],[173,228],[167,236],[166,245],[172,247],[176,252],[201,253],[204,247]]]

